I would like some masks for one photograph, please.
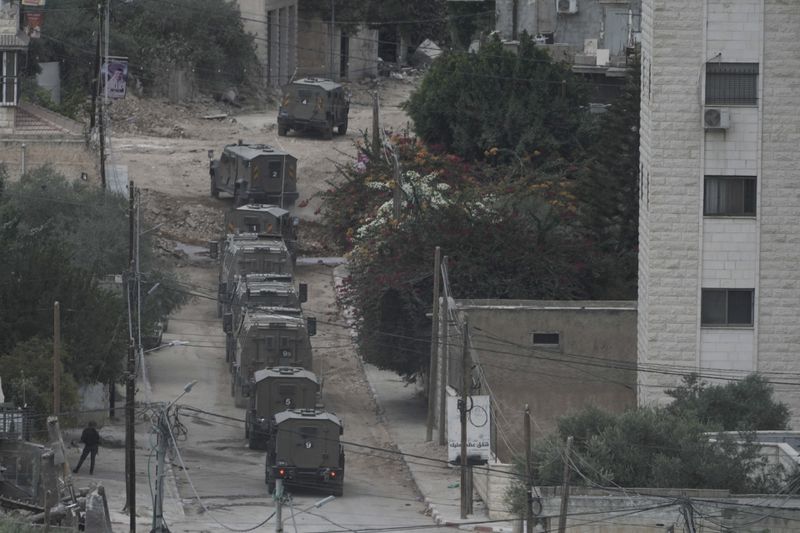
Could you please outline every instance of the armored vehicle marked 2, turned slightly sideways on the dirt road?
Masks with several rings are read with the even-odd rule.
[[[273,203],[289,207],[297,200],[297,159],[266,144],[229,144],[209,166],[211,196],[233,195],[236,206]]]

